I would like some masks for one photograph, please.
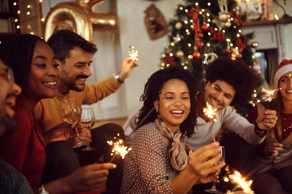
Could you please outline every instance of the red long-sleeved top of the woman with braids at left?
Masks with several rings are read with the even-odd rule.
[[[35,117],[31,120],[19,100],[14,110],[18,128],[0,138],[0,158],[23,173],[30,186],[35,188],[40,184],[46,164],[46,143]]]

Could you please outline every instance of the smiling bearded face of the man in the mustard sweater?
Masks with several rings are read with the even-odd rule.
[[[91,76],[91,54],[84,52],[79,47],[70,51],[70,57],[65,59],[65,64],[60,65],[60,87],[62,92],[68,89],[82,91],[85,87],[85,79]]]

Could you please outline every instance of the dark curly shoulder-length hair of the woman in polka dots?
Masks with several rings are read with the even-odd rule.
[[[186,120],[180,124],[180,130],[182,134],[190,137],[194,133],[194,127],[196,125],[196,119],[198,117],[198,97],[197,97],[197,86],[198,82],[192,73],[187,70],[184,70],[180,67],[169,67],[165,69],[160,69],[157,72],[153,73],[150,78],[148,78],[147,83],[145,84],[144,92],[140,97],[140,101],[144,102],[143,107],[139,110],[139,115],[137,116],[136,124],[151,111],[154,107],[154,102],[159,101],[159,94],[164,84],[173,79],[179,79],[186,83],[189,89],[191,113],[188,115]],[[155,109],[152,109],[150,115],[142,122],[139,123],[140,127],[149,122],[154,122],[157,118],[157,113]]]

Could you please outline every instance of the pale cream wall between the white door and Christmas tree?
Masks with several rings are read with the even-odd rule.
[[[169,21],[174,17],[178,4],[183,0],[160,0],[151,2],[148,0],[117,0],[117,14],[120,25],[121,56],[128,56],[129,45],[135,46],[139,52],[139,67],[134,69],[132,75],[125,81],[126,103],[128,113],[137,112],[142,104],[139,98],[144,90],[148,77],[157,71],[161,63],[161,55],[164,45],[169,43],[167,35],[156,40],[150,40],[144,25],[144,10],[151,4],[162,12],[165,19]]]

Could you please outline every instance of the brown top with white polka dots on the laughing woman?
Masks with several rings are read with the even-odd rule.
[[[137,129],[129,147],[132,150],[124,160],[120,193],[172,194],[171,180],[179,172],[170,166],[167,148],[156,125],[151,122]]]

